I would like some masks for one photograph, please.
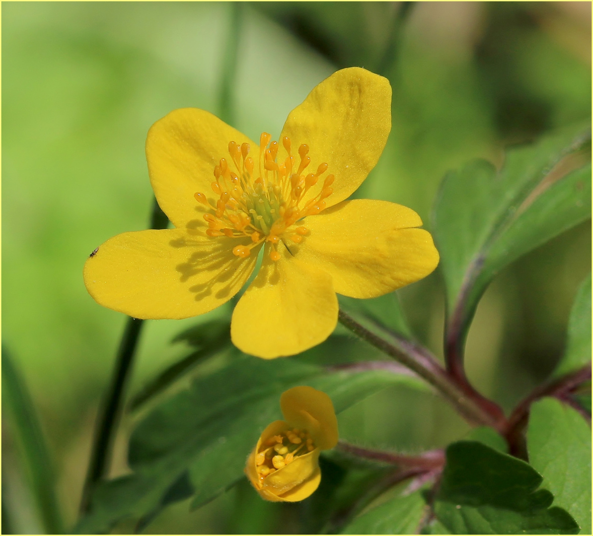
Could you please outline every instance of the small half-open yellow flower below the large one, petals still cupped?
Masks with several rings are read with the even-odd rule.
[[[319,453],[337,444],[331,399],[313,387],[293,387],[280,397],[285,421],[274,421],[247,458],[245,473],[264,499],[306,499],[319,486]]]

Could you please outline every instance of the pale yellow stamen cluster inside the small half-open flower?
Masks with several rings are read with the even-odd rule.
[[[260,451],[256,453],[256,467],[260,480],[314,449],[313,439],[306,430],[293,428],[272,436],[263,442]]]

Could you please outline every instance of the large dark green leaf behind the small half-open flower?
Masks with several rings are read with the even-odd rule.
[[[134,474],[101,484],[76,531],[105,532],[120,519],[152,516],[186,471],[194,508],[224,492],[244,478],[260,432],[282,418],[280,394],[290,387],[325,391],[339,413],[369,394],[410,381],[419,380],[384,370],[329,371],[298,360],[237,358],[197,378],[139,423],[129,448]]]

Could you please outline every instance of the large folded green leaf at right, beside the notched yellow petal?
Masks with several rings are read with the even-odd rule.
[[[572,128],[509,150],[499,171],[477,160],[445,176],[433,230],[462,326],[500,269],[591,216],[590,140]]]

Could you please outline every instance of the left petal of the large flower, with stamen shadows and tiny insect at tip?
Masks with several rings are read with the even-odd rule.
[[[196,316],[231,299],[249,278],[257,251],[240,259],[232,254],[238,243],[186,229],[122,233],[87,259],[84,283],[98,303],[135,318]]]

